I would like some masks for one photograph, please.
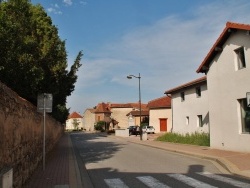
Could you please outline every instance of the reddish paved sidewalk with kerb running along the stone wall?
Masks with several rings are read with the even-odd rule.
[[[27,188],[81,188],[81,177],[69,134],[65,133],[42,165],[28,180]]]

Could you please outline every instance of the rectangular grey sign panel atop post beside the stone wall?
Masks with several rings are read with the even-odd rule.
[[[52,112],[53,96],[49,93],[41,93],[37,96],[37,111]]]

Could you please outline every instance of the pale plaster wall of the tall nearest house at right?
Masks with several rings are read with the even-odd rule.
[[[236,71],[234,50],[244,46],[246,68]],[[241,133],[238,99],[250,91],[250,36],[237,31],[224,44],[207,74],[211,147],[250,152],[250,134]]]

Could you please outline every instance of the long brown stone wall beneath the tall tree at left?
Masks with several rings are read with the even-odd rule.
[[[46,153],[63,126],[46,114]],[[13,187],[21,187],[43,156],[43,114],[0,82],[0,171],[13,168]]]

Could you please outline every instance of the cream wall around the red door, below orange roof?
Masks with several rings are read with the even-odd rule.
[[[149,110],[149,125],[155,128],[155,132],[160,132],[160,118],[167,119],[167,132],[172,129],[172,110],[171,108],[150,109]]]

